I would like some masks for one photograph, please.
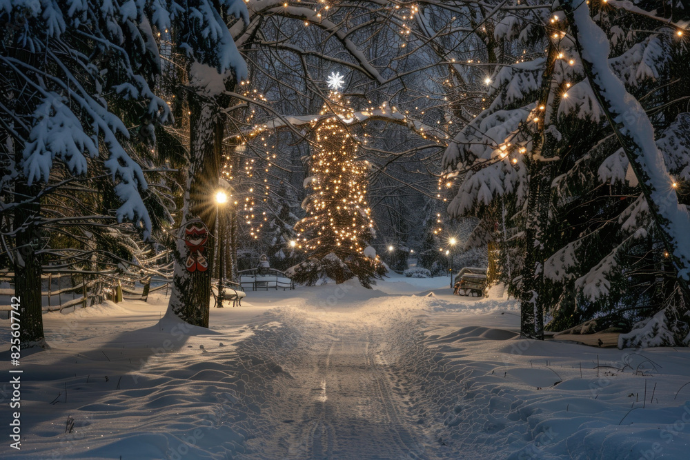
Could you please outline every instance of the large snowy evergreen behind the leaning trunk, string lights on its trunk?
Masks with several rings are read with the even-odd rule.
[[[513,43],[504,49],[520,49],[522,57],[504,56],[513,63],[506,62],[486,77],[491,100],[455,136],[444,157],[444,166],[462,171],[451,214],[471,213],[486,221],[492,214],[499,215],[498,198],[502,199],[507,211],[502,212],[506,221],[502,252],[514,254],[511,265],[518,269],[511,270],[512,279],[506,281],[522,299],[522,332],[529,337],[540,337],[544,309],[550,308],[554,316],[552,328],[564,328],[620,308],[625,299],[635,297],[631,292],[649,299],[649,292],[654,291],[649,288],[654,282],[649,268],[662,265],[658,258],[663,252],[661,243],[667,239],[664,232],[677,234],[679,228],[678,223],[665,229],[659,225],[654,201],[671,210],[673,219],[682,217],[669,190],[682,188],[687,164],[679,112],[688,86],[667,90],[671,81],[687,79],[687,67],[680,70],[671,65],[683,61],[687,53],[678,40],[682,31],[660,25],[651,13],[632,14],[624,6],[620,10],[591,8],[599,27],[609,32],[604,37],[589,14],[580,14],[578,21],[597,35],[596,43],[587,35],[584,46],[589,50],[584,52],[582,43],[571,38],[577,31],[575,19],[569,16],[566,21],[566,14],[558,9],[541,21],[543,28],[533,26],[531,33],[523,31],[519,36],[510,26],[515,21],[509,14],[501,20],[503,26],[495,28],[495,36]],[[544,48],[546,55],[540,51]],[[601,101],[602,88],[591,83],[595,77],[588,59],[608,55],[609,48],[614,50],[613,57],[603,64],[598,61],[606,68],[600,70],[605,86],[611,86],[615,94],[627,91],[631,96],[626,96],[626,103],[631,103],[633,116],[620,117],[616,123],[622,126],[607,119],[610,108]],[[617,103],[622,107],[620,99]],[[656,137],[661,155],[652,154],[654,160],[641,172],[640,165],[635,170],[630,164],[633,160],[626,149],[631,144],[624,145],[630,139],[619,135],[621,130],[635,131],[626,126],[633,121],[650,133],[640,105],[653,114],[649,121],[661,134]],[[653,134],[649,137],[654,139]],[[647,148],[655,150],[649,143]],[[660,156],[669,165],[670,175],[664,172]],[[641,193],[640,175],[644,179],[647,174],[656,181],[666,178],[663,197]],[[671,177],[678,184],[673,185]],[[609,186],[602,187],[602,182]],[[660,189],[658,183],[655,187]],[[488,231],[491,226],[485,228]],[[505,252],[506,246],[518,250]],[[667,253],[670,259],[672,248]],[[679,254],[675,261],[682,283],[684,255]]]

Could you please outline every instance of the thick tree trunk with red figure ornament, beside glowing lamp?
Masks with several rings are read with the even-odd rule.
[[[215,191],[220,173],[223,124],[215,106],[195,94],[190,96],[190,166],[182,209],[181,233],[175,248],[175,270],[168,313],[172,312],[187,323],[208,328],[213,252],[215,246]],[[208,270],[188,272],[185,261],[188,248],[184,240],[185,223],[199,219],[208,228],[204,257]]]

